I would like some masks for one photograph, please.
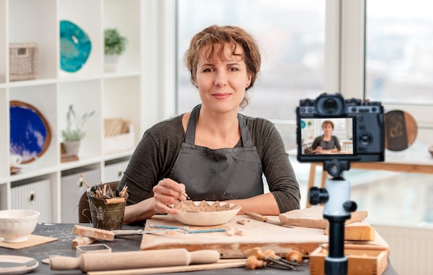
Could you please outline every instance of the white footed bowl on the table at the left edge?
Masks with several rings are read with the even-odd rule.
[[[3,242],[25,242],[35,230],[39,212],[33,210],[0,211],[0,237]]]

